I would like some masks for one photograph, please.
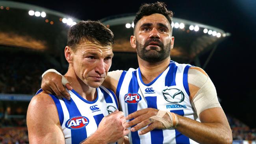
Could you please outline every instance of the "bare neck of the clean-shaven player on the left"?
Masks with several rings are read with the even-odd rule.
[[[65,74],[65,78],[67,78],[72,88],[85,100],[93,101],[96,99],[96,89],[86,85],[80,78],[78,78],[73,68],[69,68]]]

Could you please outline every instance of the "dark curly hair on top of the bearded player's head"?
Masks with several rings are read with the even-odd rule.
[[[173,12],[167,10],[165,3],[155,2],[152,4],[142,4],[141,7],[139,7],[139,11],[136,13],[136,16],[134,18],[134,27],[142,17],[152,15],[154,13],[164,15],[169,21],[170,25],[172,24]]]

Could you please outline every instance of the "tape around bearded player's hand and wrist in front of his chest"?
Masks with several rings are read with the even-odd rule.
[[[171,122],[168,122],[167,120],[165,120],[163,118],[163,116],[165,114],[168,114],[170,119],[171,119]],[[170,127],[174,127],[176,128],[176,126],[178,125],[179,121],[178,121],[178,117],[176,116],[176,114],[174,113],[171,113],[171,112],[167,112],[167,111],[161,111],[159,110],[158,113],[156,114],[156,116],[151,116],[150,117],[151,119],[153,120],[156,120],[156,121],[159,121],[163,124],[163,126],[165,126],[166,129],[169,129]]]

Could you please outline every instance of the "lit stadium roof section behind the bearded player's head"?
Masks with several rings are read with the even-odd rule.
[[[115,34],[116,45],[113,51],[136,52],[130,46],[130,35],[133,35],[134,14],[116,15],[104,18],[101,21]],[[127,25],[126,25],[127,24]],[[127,27],[126,27],[127,26]],[[196,56],[213,49],[230,33],[189,20],[173,18],[174,48],[171,57],[193,60]]]

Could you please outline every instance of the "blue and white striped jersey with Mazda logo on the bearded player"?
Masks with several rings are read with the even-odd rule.
[[[139,68],[123,71],[116,94],[124,115],[155,108],[198,120],[189,101],[187,72],[190,66],[171,61],[169,67],[148,84],[143,83]],[[131,132],[129,138],[132,144],[197,144],[173,128],[154,129],[145,135]]]

